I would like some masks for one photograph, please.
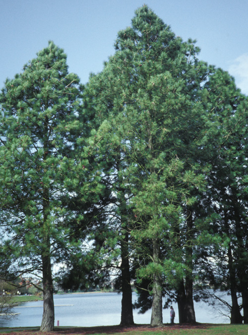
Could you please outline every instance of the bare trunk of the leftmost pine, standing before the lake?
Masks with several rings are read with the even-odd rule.
[[[41,332],[51,332],[54,330],[54,296],[53,278],[50,256],[43,256],[43,316]]]

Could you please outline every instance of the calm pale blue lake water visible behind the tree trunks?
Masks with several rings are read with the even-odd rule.
[[[119,325],[121,322],[122,295],[118,293],[82,293],[54,295],[55,326],[108,326]],[[133,293],[133,302],[136,294]],[[178,323],[177,306],[175,323]],[[40,326],[43,313],[43,302],[26,302],[14,308],[14,313],[20,313],[10,320],[0,317],[0,327],[34,327]],[[204,303],[195,303],[196,321],[201,323],[230,323],[224,317],[213,314],[211,307]],[[170,322],[169,309],[163,311],[163,322]],[[151,311],[138,314],[133,311],[136,324],[149,324]]]

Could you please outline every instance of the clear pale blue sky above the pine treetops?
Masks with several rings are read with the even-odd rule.
[[[199,58],[228,70],[248,94],[248,0],[0,0],[0,88],[49,40],[86,83],[143,3],[177,36],[196,39]]]

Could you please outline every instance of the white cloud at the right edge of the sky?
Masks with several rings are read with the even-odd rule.
[[[235,77],[237,86],[243,93],[248,94],[248,54],[243,54],[234,60],[228,69]]]

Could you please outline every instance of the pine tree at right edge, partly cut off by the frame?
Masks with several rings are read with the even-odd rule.
[[[205,85],[206,110],[212,122],[211,173],[207,198],[218,219],[215,231],[227,239],[219,250],[219,280],[216,283],[230,292],[231,323],[242,323],[237,294],[243,299],[244,322],[248,322],[248,282],[246,219],[247,206],[247,128],[248,100],[237,89],[234,79],[216,69]],[[226,244],[224,244],[225,246]]]

